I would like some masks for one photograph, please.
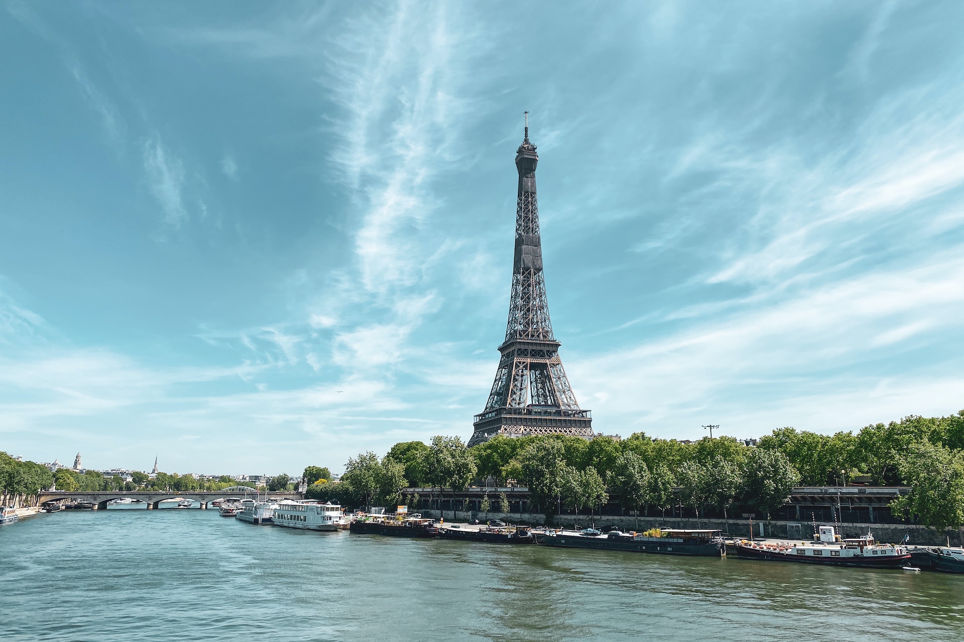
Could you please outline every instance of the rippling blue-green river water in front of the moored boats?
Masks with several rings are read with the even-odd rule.
[[[964,576],[250,526],[215,510],[0,526],[4,640],[955,640]]]

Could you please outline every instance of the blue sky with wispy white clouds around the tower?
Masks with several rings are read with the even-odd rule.
[[[0,11],[0,449],[338,470],[468,438],[522,111],[605,433],[964,407],[964,4]]]

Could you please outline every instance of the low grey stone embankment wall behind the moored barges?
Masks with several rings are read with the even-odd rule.
[[[419,511],[425,517],[431,517],[433,519],[444,518],[446,522],[467,522],[469,520],[477,519],[479,522],[487,522],[489,520],[502,520],[503,522],[508,522],[510,524],[531,524],[531,525],[544,525],[546,524],[546,517],[542,513],[481,513],[478,511],[455,511],[454,519],[453,513],[450,510],[440,511],[438,510],[420,510]],[[761,524],[763,524],[763,533],[761,533]],[[659,517],[627,517],[627,516],[614,516],[614,515],[596,515],[595,517],[589,515],[580,515],[578,517],[574,515],[561,515],[556,516],[553,523],[549,526],[565,526],[573,527],[579,526],[584,528],[586,526],[596,526],[597,528],[602,528],[603,526],[617,526],[621,530],[646,530],[648,528],[655,528],[657,526],[662,526],[666,528],[718,528],[724,533],[728,533],[734,537],[747,537],[750,531],[750,523],[745,519],[736,520],[694,520],[694,519],[681,519],[681,518],[671,518],[667,517],[662,519]],[[817,523],[817,526],[833,526],[823,525],[822,523]],[[840,534],[844,537],[857,537],[858,535],[866,535],[867,531],[873,533],[873,536],[877,538],[878,542],[892,542],[897,543],[904,538],[904,535],[910,535],[911,544],[920,545],[947,545],[948,540],[951,540],[951,546],[962,546],[964,545],[964,528],[952,529],[948,528],[945,531],[940,531],[935,528],[928,528],[926,526],[915,526],[915,525],[904,525],[904,524],[839,524],[837,525],[840,529]],[[753,535],[755,537],[773,537],[780,539],[803,539],[809,540],[814,536],[814,525],[810,522],[786,522],[786,521],[770,521],[770,522],[760,522],[759,520],[753,521]]]

